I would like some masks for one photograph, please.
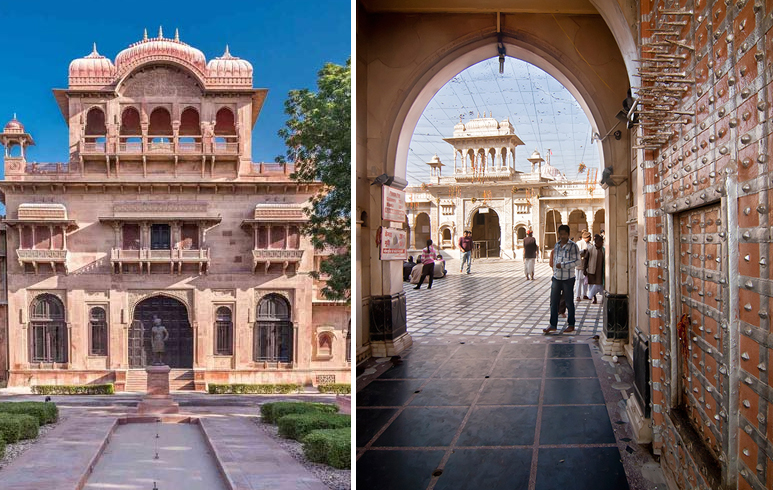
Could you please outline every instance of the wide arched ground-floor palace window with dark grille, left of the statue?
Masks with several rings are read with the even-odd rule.
[[[42,294],[30,306],[32,362],[67,362],[64,305],[52,294]]]

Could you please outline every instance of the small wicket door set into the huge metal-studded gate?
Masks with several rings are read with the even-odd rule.
[[[727,461],[727,224],[719,204],[685,211],[675,224],[679,404],[715,462]]]

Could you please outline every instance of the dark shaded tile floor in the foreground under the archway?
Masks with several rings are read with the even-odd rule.
[[[628,489],[589,344],[524,340],[417,342],[359,391],[357,487]]]

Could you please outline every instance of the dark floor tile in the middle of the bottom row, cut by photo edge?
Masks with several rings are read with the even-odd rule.
[[[531,458],[531,449],[457,449],[449,458],[435,488],[437,490],[529,488]],[[357,474],[359,474],[359,468]]]

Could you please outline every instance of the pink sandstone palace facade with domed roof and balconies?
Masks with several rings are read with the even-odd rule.
[[[207,61],[159,31],[70,64],[66,162],[27,158],[34,121],[5,125],[10,386],[142,390],[155,316],[173,389],[349,382],[349,308],[300,232],[315,185],[251,159],[266,94],[228,48]]]

